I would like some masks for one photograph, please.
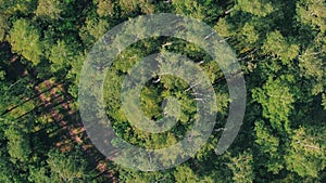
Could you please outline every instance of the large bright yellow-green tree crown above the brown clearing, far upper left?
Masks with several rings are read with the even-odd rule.
[[[8,40],[14,52],[34,65],[41,62],[43,53],[39,31],[27,19],[21,18],[13,23]]]

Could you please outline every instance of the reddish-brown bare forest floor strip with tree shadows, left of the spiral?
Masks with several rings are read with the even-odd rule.
[[[87,133],[80,121],[80,117],[74,109],[74,102],[62,83],[49,79],[45,80],[37,87],[36,92],[39,94],[38,105],[45,105],[47,112],[42,112],[46,118],[51,118],[55,125],[60,126],[60,139],[55,146],[62,152],[68,152],[74,146],[82,146],[86,156],[91,162],[95,162],[99,175],[106,177],[112,182],[117,182],[115,172],[108,168],[109,159],[100,155],[96,147],[87,138]]]

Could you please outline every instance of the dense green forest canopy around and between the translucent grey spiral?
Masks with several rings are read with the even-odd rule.
[[[146,82],[139,101],[143,115],[159,120],[164,100],[176,99],[179,107],[166,104],[179,113],[175,126],[149,133],[128,121],[121,86],[130,68],[153,53],[186,55],[199,65],[217,106],[212,133],[190,159],[140,171],[115,164],[92,143],[80,117],[78,87],[99,39],[128,19],[159,13],[202,22],[228,43],[246,80],[246,113],[235,141],[217,155],[231,103],[218,64],[183,39],[153,36],[130,44],[103,81],[104,112],[117,136],[156,149],[193,128],[200,99],[171,75]],[[0,182],[325,183],[325,70],[324,0],[1,0]]]

